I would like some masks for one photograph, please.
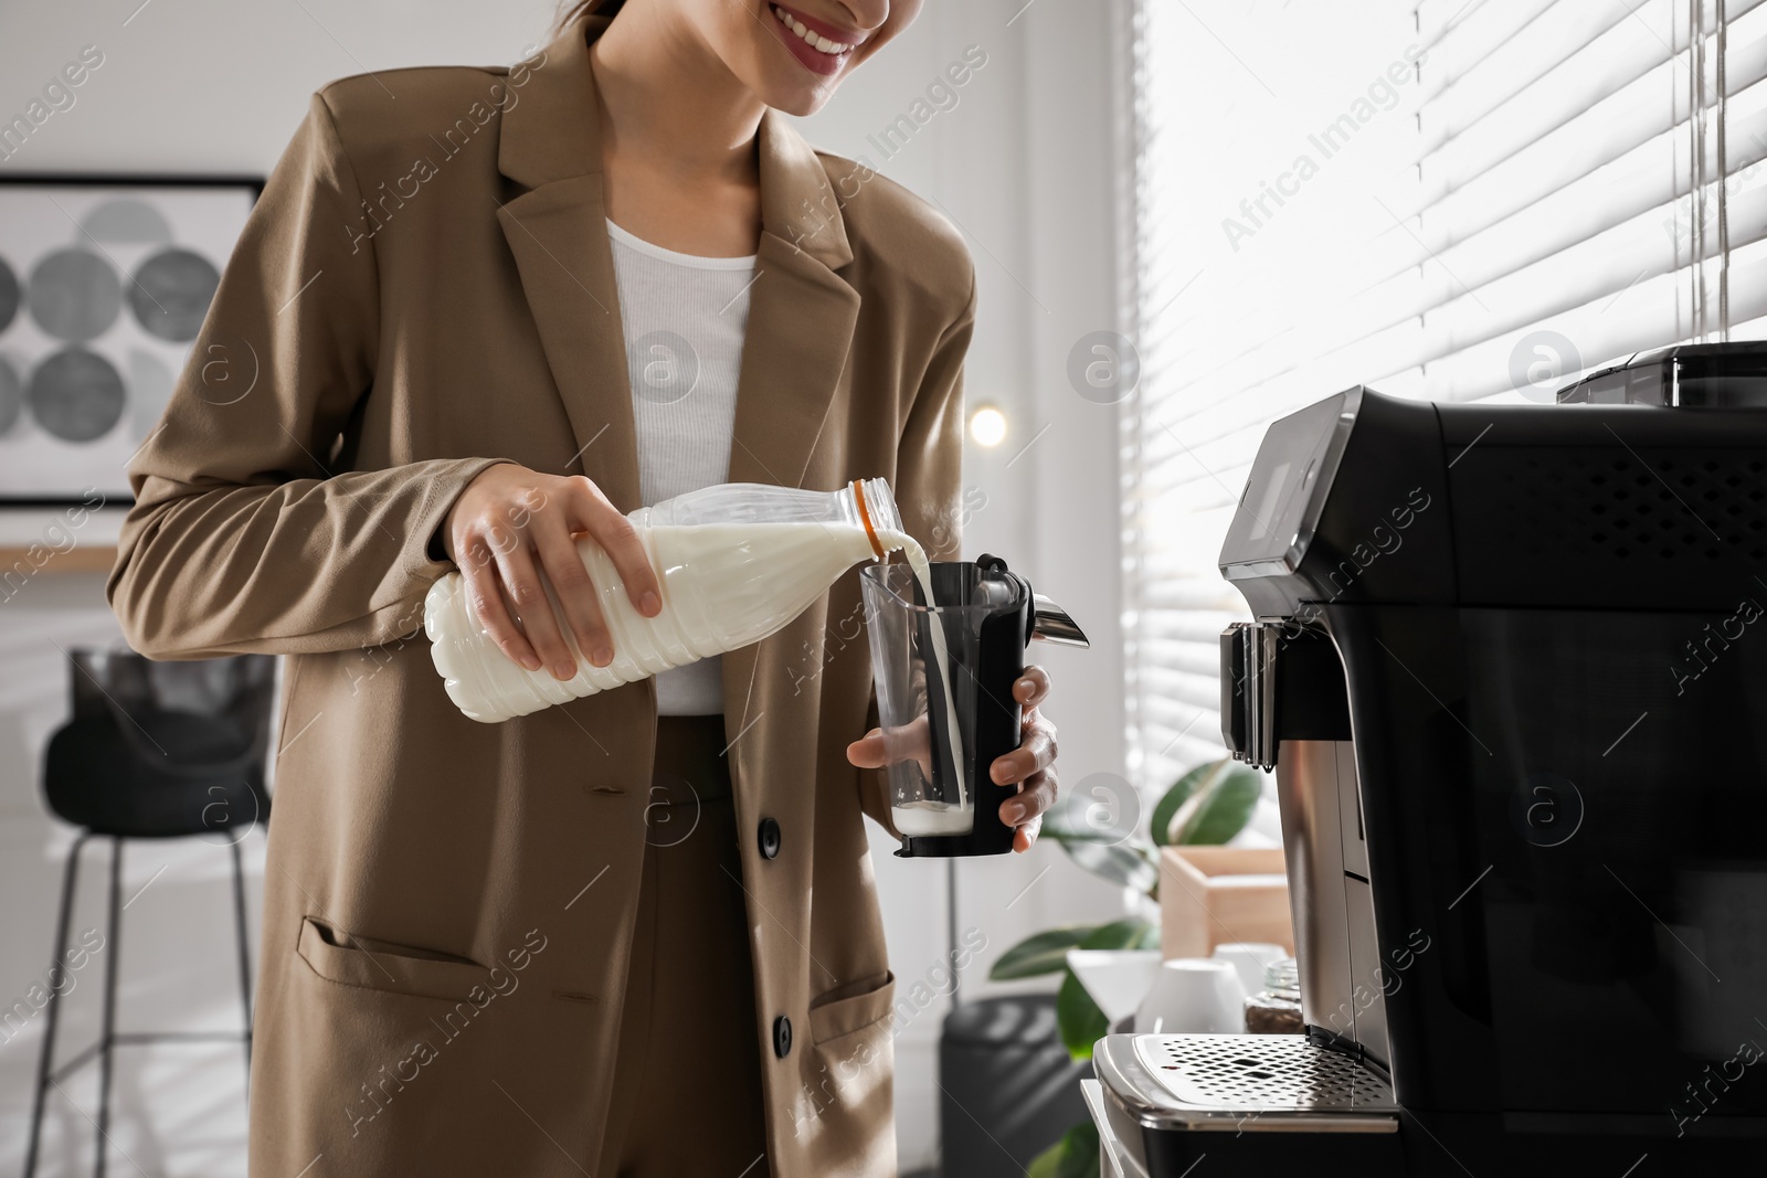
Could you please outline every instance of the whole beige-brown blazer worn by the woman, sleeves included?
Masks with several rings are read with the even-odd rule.
[[[129,641],[290,655],[253,1174],[578,1176],[601,1150],[654,689],[475,724],[421,622],[451,567],[431,535],[493,461],[581,470],[640,507],[587,48],[604,26],[509,69],[320,90],[131,464],[110,578]],[[730,479],[884,475],[908,530],[949,549],[963,242],[785,118],[758,152]],[[772,1173],[894,1174],[892,975],[861,821],[887,814],[845,759],[871,710],[857,578],[723,676],[737,819],[781,828],[770,860],[742,841]],[[682,1069],[691,1132],[717,1093],[691,1060],[659,1063]]]

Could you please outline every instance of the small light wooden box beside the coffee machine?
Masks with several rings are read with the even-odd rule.
[[[1168,846],[1159,853],[1161,957],[1263,941],[1293,955],[1283,848]]]

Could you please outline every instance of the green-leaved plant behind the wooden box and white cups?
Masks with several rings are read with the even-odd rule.
[[[1081,805],[1057,807],[1043,823],[1041,839],[1062,844],[1067,855],[1096,876],[1159,901],[1159,851],[1164,846],[1221,844],[1251,821],[1263,793],[1263,775],[1230,758],[1184,774],[1154,805],[1147,830],[1127,837],[1117,827],[1087,821]],[[1076,800],[1083,802],[1083,800]],[[1110,1019],[1067,968],[1071,948],[1159,948],[1159,927],[1141,917],[1106,924],[1048,929],[1011,947],[988,977],[1016,980],[1062,975],[1055,1016],[1062,1042],[1074,1060],[1090,1060],[1092,1044],[1110,1033]],[[1030,1166],[1030,1178],[1090,1178],[1099,1173],[1099,1139],[1090,1120],[1081,1121]]]

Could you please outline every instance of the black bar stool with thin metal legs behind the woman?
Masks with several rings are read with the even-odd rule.
[[[25,1178],[37,1173],[37,1146],[51,1086],[99,1061],[97,1166],[104,1174],[110,1127],[111,1051],[150,1042],[242,1040],[246,1079],[251,1083],[251,957],[246,940],[246,872],[240,839],[269,821],[263,788],[274,710],[276,659],[237,655],[200,662],[154,662],[131,650],[72,650],[69,653],[72,719],[49,738],[42,793],[49,809],[81,827],[67,857],[62,908],[49,964],[48,1023],[37,1063]],[[239,938],[239,984],[246,1010],[242,1033],[136,1033],[118,1035],[117,957],[122,924],[124,839],[178,839],[201,835],[226,842],[233,857],[233,920]],[[55,1024],[62,991],[57,977],[67,970],[67,929],[80,883],[80,853],[88,839],[111,841],[110,899],[106,906],[104,998],[99,1038],[55,1063]]]

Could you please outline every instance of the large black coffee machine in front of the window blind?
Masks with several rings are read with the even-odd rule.
[[[1106,1174],[1760,1173],[1767,344],[1558,401],[1265,434],[1223,735],[1276,770],[1308,1030],[1101,1040]]]

